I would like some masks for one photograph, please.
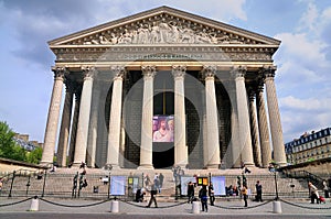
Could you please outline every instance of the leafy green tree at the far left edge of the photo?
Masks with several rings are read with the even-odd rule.
[[[15,143],[14,134],[7,122],[0,122],[0,157],[25,161],[25,150]]]

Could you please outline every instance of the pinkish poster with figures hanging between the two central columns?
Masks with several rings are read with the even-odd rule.
[[[153,142],[173,142],[173,116],[153,117]]]

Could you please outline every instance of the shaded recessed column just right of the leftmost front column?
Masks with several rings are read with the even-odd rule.
[[[64,99],[64,106],[62,111],[62,122],[58,136],[58,146],[57,146],[57,164],[60,166],[66,166],[66,155],[67,155],[67,145],[70,138],[71,129],[71,119],[72,119],[72,108],[73,108],[73,85],[71,81],[65,81],[66,92]]]

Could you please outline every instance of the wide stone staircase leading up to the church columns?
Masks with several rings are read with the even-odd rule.
[[[86,199],[107,199],[114,198],[111,194],[108,178],[109,176],[125,176],[126,187],[125,196],[118,196],[118,198],[126,200],[135,199],[135,188],[145,187],[142,178],[149,175],[151,180],[156,174],[162,173],[164,176],[163,186],[161,193],[158,194],[158,200],[174,200],[184,198],[180,196],[180,189],[175,189],[175,184],[180,182],[174,180],[171,169],[97,169],[86,168],[86,174],[82,175],[82,168],[57,168],[56,172],[15,172],[7,175],[2,182],[3,187],[0,196],[10,197],[56,197],[56,198],[86,198]],[[279,197],[284,198],[308,198],[308,182],[300,178],[286,177],[281,173],[270,173],[265,168],[250,168],[249,174],[243,174],[243,169],[184,169],[184,176],[224,176],[226,186],[234,186],[241,183],[243,176],[246,177],[248,189],[250,189],[250,197],[255,196],[255,184],[257,180],[263,185],[264,199],[274,199],[276,197],[276,185]],[[275,178],[276,176],[276,178]],[[74,178],[77,178],[76,188],[74,188]],[[138,178],[137,185],[129,185],[128,177]],[[86,178],[87,186],[79,189],[79,179]],[[178,187],[179,188],[179,187]],[[145,188],[149,190],[150,187]],[[197,187],[195,195],[197,195]],[[147,198],[149,193],[147,193]],[[226,199],[235,199],[238,197],[220,197]]]

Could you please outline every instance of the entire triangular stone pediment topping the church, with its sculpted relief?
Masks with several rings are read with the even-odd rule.
[[[265,44],[278,47],[279,43],[265,35],[169,7],[145,11],[49,42],[51,47],[128,44]]]

